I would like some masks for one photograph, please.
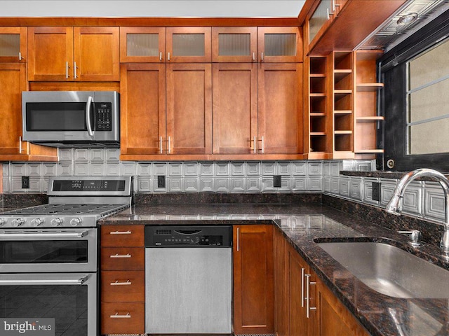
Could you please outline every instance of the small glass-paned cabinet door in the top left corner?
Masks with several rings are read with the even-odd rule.
[[[0,62],[27,62],[27,27],[0,27]]]

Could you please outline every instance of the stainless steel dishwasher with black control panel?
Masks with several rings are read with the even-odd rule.
[[[145,332],[232,333],[232,226],[145,227]]]

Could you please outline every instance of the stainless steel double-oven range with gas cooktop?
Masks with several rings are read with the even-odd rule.
[[[54,318],[55,335],[97,336],[97,221],[132,190],[130,177],[52,177],[48,204],[0,214],[0,320]]]

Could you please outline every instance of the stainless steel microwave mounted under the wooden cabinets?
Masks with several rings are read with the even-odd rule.
[[[22,92],[22,137],[34,144],[118,148],[119,123],[115,91]]]

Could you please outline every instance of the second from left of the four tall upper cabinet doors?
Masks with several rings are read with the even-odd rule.
[[[212,71],[210,64],[167,64],[168,154],[210,154]]]

